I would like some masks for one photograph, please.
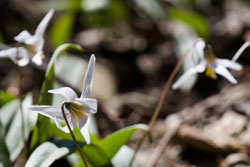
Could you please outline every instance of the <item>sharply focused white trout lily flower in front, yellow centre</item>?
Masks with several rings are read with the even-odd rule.
[[[75,126],[78,125],[83,137],[88,144],[90,143],[90,135],[88,131],[90,115],[97,112],[97,100],[91,98],[94,66],[95,55],[92,55],[85,74],[84,88],[80,98],[78,98],[76,93],[69,87],[49,90],[49,93],[59,94],[67,99],[63,104],[65,115],[67,117],[67,120],[69,121],[70,127],[73,130]],[[59,129],[66,133],[69,133],[68,127],[62,127],[58,122],[58,120],[64,120],[61,107],[53,107],[49,105],[33,105],[28,109],[37,111],[42,115],[54,119]]]

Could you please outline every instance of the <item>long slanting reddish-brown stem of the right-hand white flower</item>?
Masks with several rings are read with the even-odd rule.
[[[173,82],[173,80],[174,80],[174,77],[176,76],[178,70],[181,68],[181,65],[182,65],[182,63],[184,62],[185,58],[187,57],[188,53],[189,53],[189,51],[187,51],[187,52],[185,53],[185,55],[178,61],[178,63],[176,64],[176,66],[175,66],[175,68],[174,68],[174,70],[173,70],[173,72],[171,73],[170,77],[168,78],[168,80],[167,80],[167,82],[166,82],[166,84],[165,84],[164,90],[163,90],[163,92],[162,92],[160,101],[159,101],[158,105],[156,106],[156,109],[155,109],[155,111],[154,111],[154,114],[153,114],[153,116],[151,117],[151,120],[150,120],[150,122],[149,122],[149,124],[148,124],[148,125],[149,125],[148,131],[145,131],[144,134],[143,134],[143,136],[141,137],[141,139],[138,141],[138,143],[137,143],[137,145],[136,145],[136,148],[135,148],[134,155],[133,155],[133,157],[132,157],[132,159],[131,159],[131,161],[130,161],[130,163],[129,163],[129,167],[132,166],[133,161],[134,161],[134,159],[135,159],[135,156],[136,156],[137,152],[139,151],[139,149],[141,148],[141,146],[142,146],[142,144],[143,144],[143,142],[144,142],[146,136],[148,136],[149,133],[151,132],[151,130],[152,130],[154,124],[155,124],[155,121],[156,121],[156,119],[158,118],[158,116],[159,116],[159,114],[160,114],[160,111],[161,111],[161,109],[162,109],[162,106],[163,106],[163,104],[164,104],[164,102],[165,102],[165,100],[166,100],[166,97],[167,97],[167,95],[168,95],[168,90],[169,90],[169,88],[170,88],[171,85],[172,85],[172,82]]]

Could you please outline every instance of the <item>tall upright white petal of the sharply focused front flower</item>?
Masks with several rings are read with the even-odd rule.
[[[89,60],[87,72],[85,74],[84,88],[81,94],[81,98],[91,97],[94,67],[95,67],[95,55],[92,54]]]

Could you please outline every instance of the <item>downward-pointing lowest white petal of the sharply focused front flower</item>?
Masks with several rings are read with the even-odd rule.
[[[86,140],[87,144],[90,144],[90,135],[89,135],[89,117],[88,116],[85,116],[85,117],[82,117],[79,121],[78,121],[78,124],[79,124],[79,129],[84,137],[84,139]]]

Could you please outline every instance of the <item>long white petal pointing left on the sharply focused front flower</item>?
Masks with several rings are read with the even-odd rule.
[[[37,111],[40,114],[42,114],[46,117],[52,118],[52,119],[57,118],[60,120],[64,120],[60,107],[52,107],[52,106],[48,106],[48,105],[42,105],[42,106],[33,105],[33,106],[30,106],[28,108],[28,110]],[[65,114],[66,114],[66,116],[69,116],[69,112],[66,111]]]

